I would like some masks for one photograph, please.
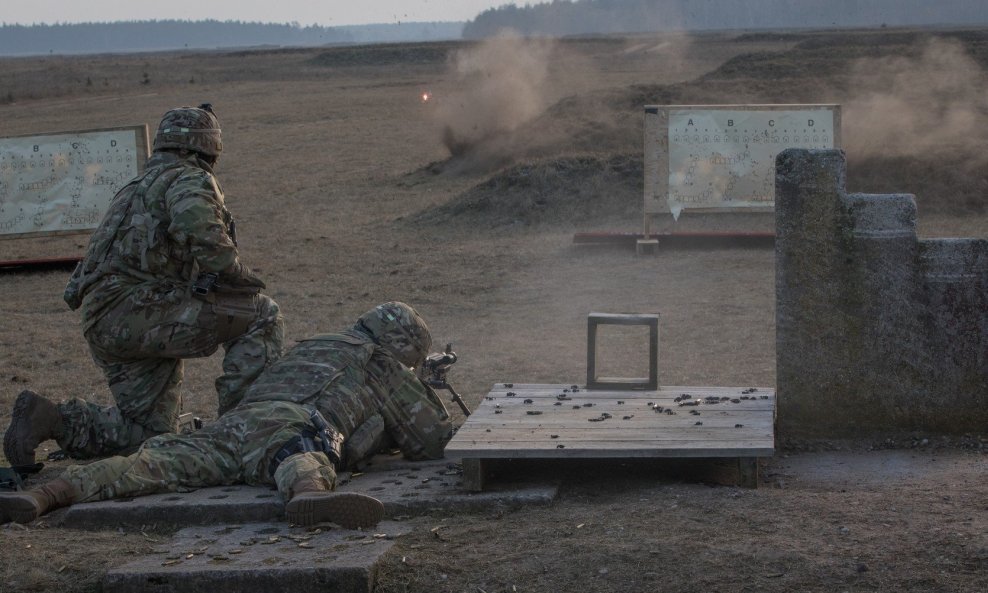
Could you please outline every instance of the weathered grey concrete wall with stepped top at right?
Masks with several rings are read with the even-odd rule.
[[[779,436],[988,429],[988,241],[916,237],[911,195],[845,192],[839,150],[776,160]]]

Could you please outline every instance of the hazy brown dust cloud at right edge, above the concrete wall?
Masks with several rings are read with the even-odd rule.
[[[956,41],[933,39],[919,56],[866,59],[852,69],[845,146],[857,156],[922,157],[958,150],[983,162],[988,73]]]

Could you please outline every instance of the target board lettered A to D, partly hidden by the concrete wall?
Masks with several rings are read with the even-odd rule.
[[[839,146],[839,105],[646,106],[646,217],[771,211],[780,152]]]

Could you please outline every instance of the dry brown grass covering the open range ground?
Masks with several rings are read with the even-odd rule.
[[[600,194],[614,189],[621,171],[605,173],[603,164],[640,151],[642,103],[764,100],[773,89],[789,97],[790,87],[780,90],[778,81],[743,72],[730,78],[717,68],[740,55],[810,51],[797,48],[802,39],[562,42],[543,89],[544,114],[502,137],[495,156],[509,157],[496,161],[504,169],[447,161],[436,106],[420,94],[428,90],[442,100],[462,90],[463,81],[437,57],[449,44],[427,48],[428,59],[419,59],[419,46],[401,46],[387,49],[387,59],[380,49],[306,49],[2,60],[0,88],[12,100],[0,96],[0,135],[153,125],[168,108],[211,101],[228,148],[218,175],[238,219],[244,258],[285,311],[289,337],[336,329],[378,302],[405,300],[429,320],[437,343],[455,344],[461,362],[451,379],[471,406],[499,381],[582,381],[586,315],[595,310],[662,315],[665,385],[774,385],[771,251],[635,258],[576,247],[572,231],[640,228],[637,212],[626,208],[635,182],[624,180],[615,195]],[[798,65],[799,54],[776,59]],[[807,89],[805,99],[839,99],[816,98]],[[897,166],[934,165],[949,162]],[[536,193],[551,207],[536,226],[499,224],[512,220],[515,209],[538,205],[521,187],[525,171],[534,172]],[[852,162],[852,187],[856,176],[864,177],[859,171]],[[638,174],[633,167],[627,172]],[[906,186],[887,171],[869,175],[876,186],[921,196],[928,187]],[[955,191],[983,195],[976,183],[983,170],[980,178],[971,175],[974,185]],[[926,183],[919,176],[908,181]],[[502,194],[510,199],[496,202]],[[595,198],[617,200],[621,213],[587,219],[598,215],[590,208]],[[490,216],[471,205],[475,199],[495,201]],[[983,216],[956,214],[969,200],[952,200],[944,196],[938,204],[951,207],[921,219],[921,231],[985,236]],[[553,212],[569,216],[569,209],[585,214],[553,220]],[[713,224],[747,224],[725,220],[731,219]],[[707,224],[688,217],[686,223]],[[82,244],[18,240],[0,249],[6,257],[52,257],[79,253]],[[61,302],[67,275],[0,279],[4,425],[23,388],[107,401],[78,318]],[[635,338],[615,337],[616,365],[635,364]],[[217,356],[187,366],[186,411],[214,415],[218,369]],[[550,508],[453,517],[442,523],[449,526],[444,539],[421,529],[401,540],[387,559],[382,590],[983,590],[988,542],[978,500],[988,492],[972,476],[983,476],[984,457],[952,455],[959,455],[951,458],[958,460],[956,472],[946,483],[938,475],[852,485],[847,492],[819,484],[739,492],[628,477],[648,474],[641,468],[579,468],[563,476],[562,499]],[[952,502],[942,498],[948,495]],[[899,514],[887,517],[893,500]],[[845,524],[854,526],[855,537],[840,537]],[[931,534],[934,527],[941,532]],[[141,546],[139,535],[61,529],[6,528],[0,539],[0,582],[14,591],[94,590],[105,566],[126,562]],[[521,542],[538,552],[516,551]],[[92,555],[105,564],[90,563]],[[82,579],[66,579],[66,572]]]

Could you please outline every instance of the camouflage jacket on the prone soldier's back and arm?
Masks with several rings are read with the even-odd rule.
[[[345,444],[383,420],[381,429],[409,459],[438,459],[452,438],[452,422],[435,392],[358,329],[297,344],[265,369],[242,403],[261,401],[318,409]],[[352,457],[353,448],[347,450]],[[372,451],[357,455],[364,453]]]

